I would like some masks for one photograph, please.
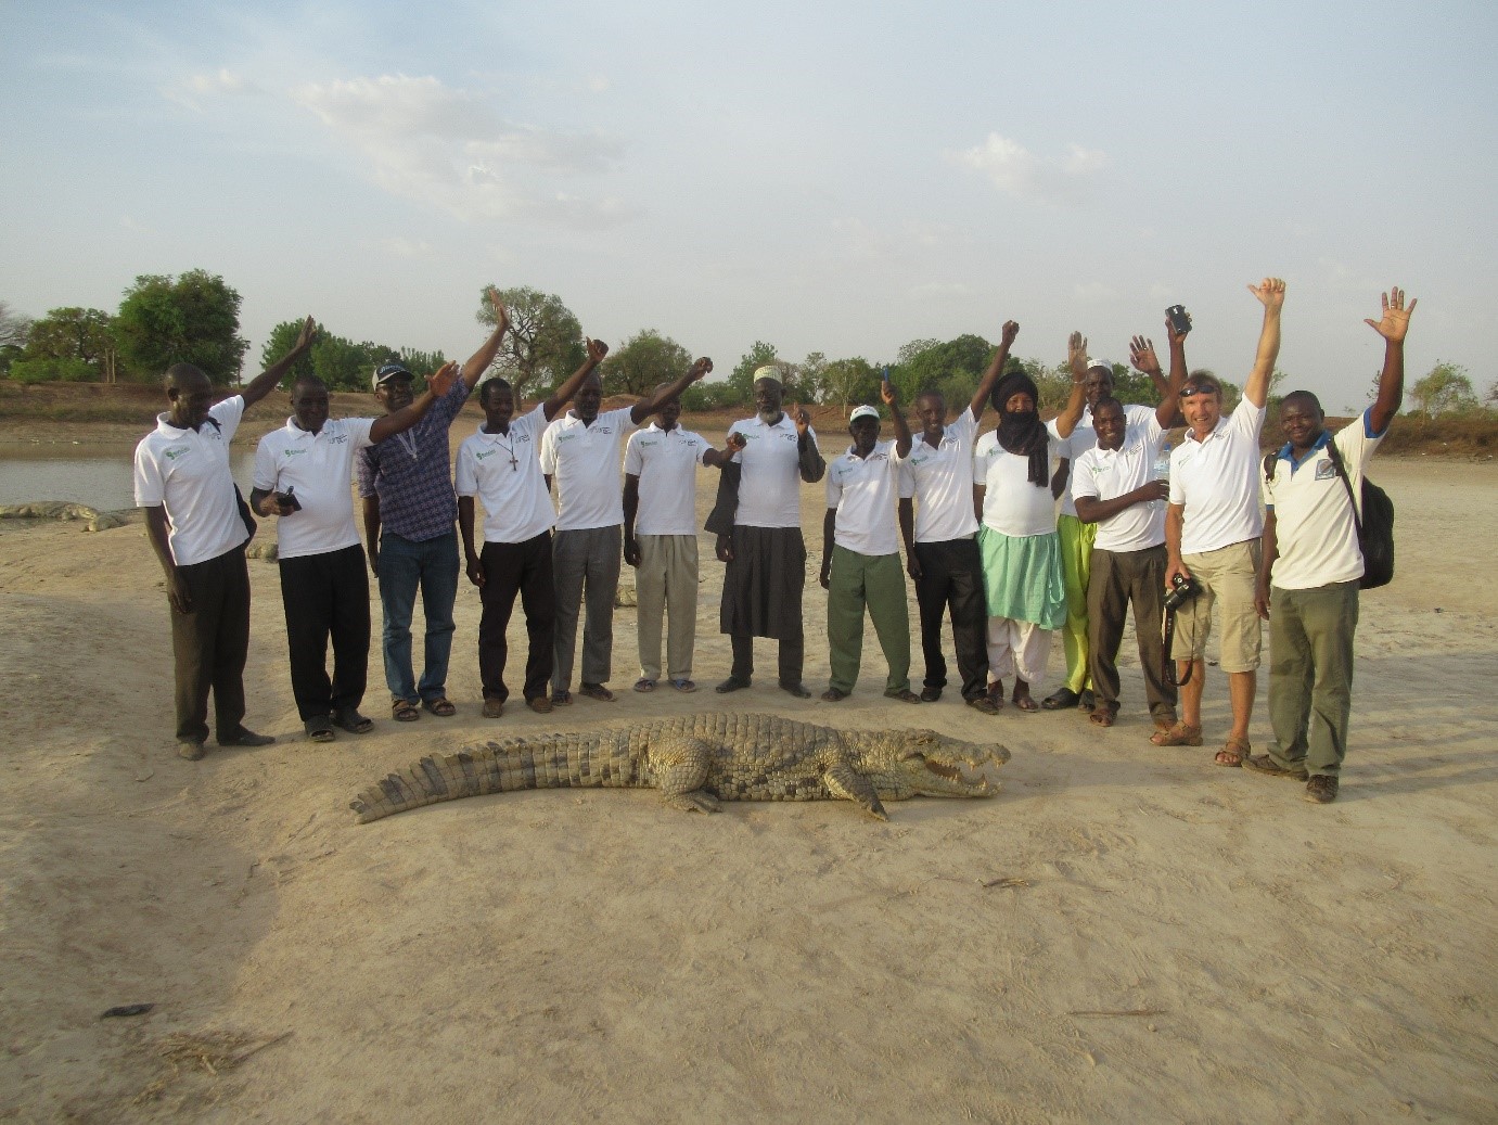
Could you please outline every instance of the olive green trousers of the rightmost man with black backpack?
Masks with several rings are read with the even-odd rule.
[[[1357,583],[1269,592],[1269,756],[1281,768],[1336,776],[1353,713]]]

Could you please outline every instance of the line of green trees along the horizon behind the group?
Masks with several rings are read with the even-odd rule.
[[[494,312],[479,289],[475,319],[493,327]],[[527,286],[500,289],[509,312],[506,333],[493,372],[503,376],[521,398],[550,394],[583,363],[586,339],[571,309],[554,294]],[[0,301],[0,376],[18,382],[154,382],[174,363],[190,363],[216,385],[238,382],[249,342],[240,336],[240,294],[222,277],[190,270],[178,277],[142,274],[124,291],[115,313],[100,309],[52,309],[30,321]],[[291,351],[300,319],[277,324],[262,349],[262,366]],[[446,360],[442,352],[355,342],[318,325],[319,336],[288,377],[315,375],[333,389],[366,391],[370,373],[385,363],[401,363],[418,382]],[[694,383],[682,395],[688,410],[749,406],[753,372],[773,366],[780,372],[789,400],[878,403],[879,380],[888,370],[900,400],[911,403],[927,389],[941,391],[948,404],[972,397],[996,345],[981,336],[954,340],[917,339],[890,360],[843,357],[830,360],[810,352],[800,361],[782,358],[774,345],[755,340],[724,379]],[[692,352],[656,328],[643,328],[616,345],[604,361],[610,394],[646,395],[670,382],[692,363]],[[1010,370],[1023,370],[1040,389],[1043,409],[1059,409],[1071,389],[1065,363],[1010,358]],[[1125,401],[1150,401],[1149,379],[1125,364],[1113,364],[1116,392]],[[1284,373],[1276,372],[1275,385]],[[1233,389],[1224,385],[1231,398]],[[1471,376],[1458,364],[1438,363],[1408,394],[1411,412],[1429,416],[1464,413],[1498,406],[1498,382],[1479,401]]]

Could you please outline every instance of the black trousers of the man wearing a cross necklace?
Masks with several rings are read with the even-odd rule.
[[[505,661],[509,658],[509,614],[520,595],[526,614],[526,686],[527,700],[547,694],[551,665],[556,659],[556,584],[551,574],[551,532],[541,532],[524,542],[485,542],[479,553],[484,584],[478,596],[484,613],[478,622],[478,674],[484,682],[484,698],[503,703],[509,698],[505,686]]]

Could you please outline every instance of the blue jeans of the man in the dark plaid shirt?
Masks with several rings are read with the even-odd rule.
[[[410,616],[421,587],[427,617],[425,667],[416,685],[410,671]],[[457,532],[413,542],[385,532],[379,539],[379,599],[385,607],[385,685],[392,700],[440,700],[446,695],[452,652],[452,604],[458,596]]]

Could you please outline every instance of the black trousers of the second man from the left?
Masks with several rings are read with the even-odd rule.
[[[370,662],[370,578],[364,548],[282,559],[291,694],[303,722],[358,707]],[[328,638],[333,679],[328,679]]]

